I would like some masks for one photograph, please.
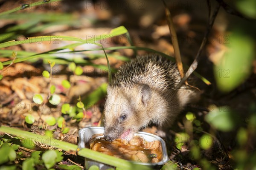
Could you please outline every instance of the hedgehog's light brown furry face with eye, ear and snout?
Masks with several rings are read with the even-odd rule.
[[[125,89],[109,86],[105,104],[104,135],[111,140],[131,139],[150,120],[146,113],[150,99],[151,89],[145,84]]]

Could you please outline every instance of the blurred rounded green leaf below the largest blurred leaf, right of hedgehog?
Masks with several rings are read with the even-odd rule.
[[[227,106],[217,108],[215,105],[212,107],[212,111],[205,116],[205,120],[218,130],[232,130],[235,126],[235,120],[234,114],[231,113],[230,108]]]

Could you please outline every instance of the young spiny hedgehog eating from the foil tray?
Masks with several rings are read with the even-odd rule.
[[[136,57],[122,65],[107,88],[106,140],[127,138],[149,123],[171,126],[198,93],[188,85],[175,89],[181,77],[175,62],[158,54]]]

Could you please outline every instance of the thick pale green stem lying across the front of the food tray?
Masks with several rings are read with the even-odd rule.
[[[94,150],[90,150],[87,148],[78,150],[78,146],[76,144],[59,141],[57,139],[53,139],[53,138],[50,138],[47,136],[41,136],[41,135],[38,135],[35,133],[30,133],[30,132],[20,130],[20,129],[1,126],[0,132],[2,132],[2,133],[5,132],[5,133],[12,134],[12,135],[20,136],[20,137],[23,137],[25,139],[29,139],[32,141],[41,142],[41,143],[44,143],[47,145],[51,145],[51,146],[60,148],[65,151],[69,151],[69,150],[73,150],[75,152],[78,151],[77,153],[79,156],[83,156],[85,158],[92,159],[95,161],[100,161],[104,164],[109,164],[111,166],[122,168],[122,169],[130,169],[130,170],[131,169],[137,169],[137,170],[142,170],[142,169],[149,170],[150,169],[147,166],[133,164],[132,162],[126,161],[124,159],[119,159],[119,158],[109,156],[109,155],[106,155],[103,153],[99,153],[99,152],[96,152]]]

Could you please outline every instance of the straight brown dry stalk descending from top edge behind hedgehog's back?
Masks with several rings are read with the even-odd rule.
[[[184,77],[184,71],[183,71],[183,65],[181,62],[181,57],[180,57],[180,48],[179,48],[179,44],[178,44],[178,40],[177,40],[177,34],[174,28],[174,24],[172,21],[172,15],[169,11],[169,9],[166,6],[166,3],[163,0],[163,4],[165,6],[165,14],[166,14],[166,20],[169,26],[169,30],[170,30],[170,34],[171,34],[171,39],[172,39],[172,45],[174,48],[174,55],[175,55],[175,59],[176,59],[176,65],[177,68],[180,72],[180,77],[183,78]]]

